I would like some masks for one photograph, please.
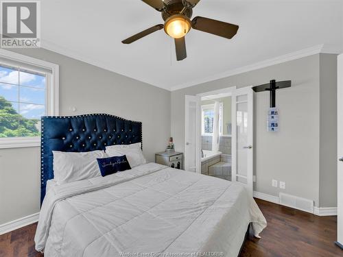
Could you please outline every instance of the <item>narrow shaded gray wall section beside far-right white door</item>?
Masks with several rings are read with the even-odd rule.
[[[319,204],[337,206],[337,55],[320,54]]]

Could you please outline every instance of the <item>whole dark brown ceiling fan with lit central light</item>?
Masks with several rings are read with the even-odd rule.
[[[238,25],[224,23],[201,16],[196,16],[191,20],[193,8],[200,0],[142,0],[152,8],[161,12],[165,24],[158,24],[139,32],[130,38],[123,40],[123,44],[130,44],[144,36],[152,34],[160,29],[165,29],[165,33],[174,38],[176,49],[176,60],[180,61],[187,57],[185,36],[191,28],[207,32],[223,38],[233,38],[237,34]]]

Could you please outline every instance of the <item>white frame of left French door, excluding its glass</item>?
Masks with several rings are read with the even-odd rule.
[[[189,112],[187,110],[187,101],[195,101],[196,102],[196,124],[200,123],[200,97],[193,96],[193,95],[185,95],[185,168],[188,167],[188,160],[187,160],[187,132],[189,130],[188,127],[188,119],[189,119]],[[201,173],[201,143],[200,143],[200,135],[201,135],[201,128],[196,125],[196,173]]]

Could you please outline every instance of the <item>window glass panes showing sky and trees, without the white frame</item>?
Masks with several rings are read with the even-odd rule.
[[[46,75],[0,64],[0,138],[40,136]]]

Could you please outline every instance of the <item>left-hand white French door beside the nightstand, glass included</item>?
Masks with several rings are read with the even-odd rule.
[[[185,170],[200,173],[200,97],[186,95],[185,110]]]

